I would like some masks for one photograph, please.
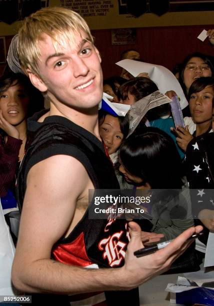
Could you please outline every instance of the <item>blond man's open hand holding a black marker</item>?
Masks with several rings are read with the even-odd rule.
[[[171,263],[193,242],[192,239],[187,239],[192,234],[199,233],[202,230],[202,226],[200,225],[190,227],[183,231],[166,247],[152,254],[137,258],[134,256],[133,252],[143,247],[141,242],[141,230],[139,225],[135,222],[129,222],[128,225],[131,239],[127,246],[125,264],[121,270],[123,271],[122,273],[124,273],[123,275],[126,275],[124,277],[126,277],[128,285],[133,288],[155,275],[166,271]],[[123,275],[121,275],[121,279]]]

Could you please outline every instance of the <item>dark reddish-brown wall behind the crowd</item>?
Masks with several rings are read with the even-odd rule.
[[[203,42],[197,39],[202,29],[208,30],[214,25],[162,26],[136,28],[136,44],[111,45],[111,30],[92,30],[102,57],[103,77],[119,75],[120,67],[115,62],[120,60],[120,54],[125,49],[137,49],[141,58],[149,63],[160,64],[172,69],[175,64],[189,53],[200,51],[214,56],[214,45],[206,38]],[[6,48],[12,36],[6,37]],[[0,74],[4,64],[0,64]]]

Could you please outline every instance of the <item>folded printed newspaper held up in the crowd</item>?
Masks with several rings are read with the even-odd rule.
[[[156,106],[169,103],[171,99],[169,99],[165,94],[156,90],[151,94],[141,98],[131,105],[130,110],[128,112],[129,118],[129,133],[128,136],[134,131],[142,117],[146,114],[146,112]]]

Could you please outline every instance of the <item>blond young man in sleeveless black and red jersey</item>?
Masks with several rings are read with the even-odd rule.
[[[117,188],[98,134],[97,105],[102,96],[99,53],[85,21],[64,8],[45,8],[27,17],[18,40],[22,67],[32,84],[49,98],[50,110],[48,116],[38,118],[42,127],[19,175],[18,193],[24,200],[12,281],[21,291],[34,293],[72,295],[135,288],[165,271],[189,245],[186,239],[201,226],[189,228],[154,254],[136,258],[133,252],[143,247],[136,223],[129,222],[129,233],[125,220],[109,224],[87,219],[88,189]],[[73,234],[82,222],[78,234]],[[115,228],[109,229],[111,226]],[[74,239],[66,243],[70,235]],[[92,246],[86,245],[93,236]],[[116,261],[107,252],[108,239],[114,239],[111,251]],[[70,251],[73,243],[71,250],[79,253],[81,260]],[[112,268],[83,268],[93,263]],[[59,296],[60,305],[68,303]]]

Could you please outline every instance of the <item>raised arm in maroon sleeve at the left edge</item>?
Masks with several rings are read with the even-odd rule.
[[[7,134],[6,143],[0,137],[0,196],[5,196],[14,179],[18,153],[22,143],[15,126],[6,121],[0,110],[0,129]]]

